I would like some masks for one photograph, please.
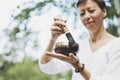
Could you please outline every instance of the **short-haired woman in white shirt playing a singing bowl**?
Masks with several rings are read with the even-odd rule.
[[[80,50],[77,56],[52,53],[55,41],[63,34],[59,25],[66,27],[66,20],[56,17],[51,28],[52,37],[39,60],[41,70],[56,74],[72,68],[72,80],[120,80],[120,38],[104,28],[103,19],[107,15],[104,0],[78,0],[77,6],[90,38],[78,42]]]

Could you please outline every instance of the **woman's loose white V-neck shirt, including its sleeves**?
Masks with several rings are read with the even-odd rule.
[[[94,53],[89,44],[89,39],[80,40],[80,50],[77,56],[85,68],[91,72],[90,80],[120,80],[120,38],[116,38]],[[52,59],[47,64],[41,64],[40,69],[47,74],[56,74],[72,69],[72,80],[84,80],[75,73],[74,68],[66,62]]]

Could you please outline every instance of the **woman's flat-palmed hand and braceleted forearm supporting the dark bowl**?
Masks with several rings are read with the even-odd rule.
[[[81,69],[83,67],[78,57],[75,56],[73,53],[70,53],[69,56],[62,54],[53,54],[52,52],[46,52],[46,53],[48,56],[70,63],[76,70]],[[91,73],[85,67],[79,73],[85,78],[85,80],[90,80]]]

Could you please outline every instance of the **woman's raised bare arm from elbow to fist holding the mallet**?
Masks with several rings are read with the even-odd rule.
[[[62,26],[66,26],[66,20],[62,20],[60,16],[57,16],[54,18],[54,23],[51,27],[51,39],[49,41],[49,44],[43,54],[43,56],[41,57],[41,63],[42,64],[46,64],[47,62],[49,62],[52,58],[50,56],[48,56],[46,54],[46,51],[52,52],[54,44],[57,40],[57,38],[63,34],[63,29],[61,27],[59,27],[59,25]]]

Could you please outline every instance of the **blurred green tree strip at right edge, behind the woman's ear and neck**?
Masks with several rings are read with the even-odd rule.
[[[107,28],[107,31],[110,32],[111,34],[115,36],[120,36],[120,31],[119,31],[119,25],[120,25],[120,20],[119,16],[120,15],[120,0],[109,0],[111,3],[110,7],[108,7],[108,25],[109,27]],[[116,19],[118,21],[118,25],[116,22]]]

